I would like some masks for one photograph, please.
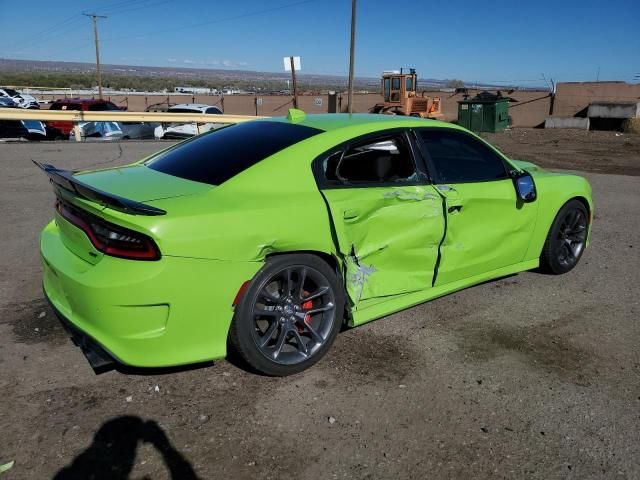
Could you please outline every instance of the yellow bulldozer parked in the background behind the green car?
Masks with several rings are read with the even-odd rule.
[[[418,95],[418,75],[414,68],[406,73],[400,71],[386,71],[382,73],[382,96],[384,101],[377,103],[371,113],[387,115],[410,115],[422,118],[442,117],[440,97],[428,97],[424,91]]]

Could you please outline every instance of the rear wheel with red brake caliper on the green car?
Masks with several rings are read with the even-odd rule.
[[[236,306],[230,355],[270,376],[309,368],[327,353],[340,331],[343,291],[334,270],[318,256],[269,258]]]

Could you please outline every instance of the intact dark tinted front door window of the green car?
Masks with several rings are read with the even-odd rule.
[[[508,178],[500,157],[465,133],[423,129],[419,135],[442,183],[487,182]]]

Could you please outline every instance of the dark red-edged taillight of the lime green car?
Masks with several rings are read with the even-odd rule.
[[[143,233],[114,225],[60,200],[56,202],[56,210],[62,218],[82,230],[96,250],[106,255],[130,260],[160,260],[158,246]]]

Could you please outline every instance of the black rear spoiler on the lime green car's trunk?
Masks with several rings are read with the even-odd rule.
[[[120,197],[87,185],[74,177],[73,172],[69,170],[62,170],[46,163],[38,163],[35,160],[32,161],[40,170],[47,174],[55,186],[79,197],[131,215],[165,215],[167,213],[160,208]]]

